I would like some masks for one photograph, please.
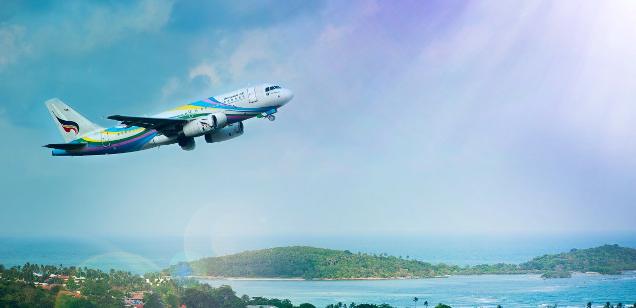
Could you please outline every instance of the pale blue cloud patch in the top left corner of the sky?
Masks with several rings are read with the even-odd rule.
[[[132,6],[62,3],[39,18],[0,25],[0,66],[24,55],[45,57],[85,53],[130,36],[158,33],[174,1],[141,1]]]

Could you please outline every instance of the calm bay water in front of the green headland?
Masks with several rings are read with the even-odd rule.
[[[602,307],[609,301],[636,302],[636,272],[619,276],[573,274],[570,278],[541,279],[537,275],[474,275],[429,279],[349,281],[228,281],[201,279],[211,286],[230,284],[237,294],[287,298],[294,305],[305,302],[325,307],[343,302],[390,304],[413,307],[413,297],[429,307],[583,307],[588,301]]]

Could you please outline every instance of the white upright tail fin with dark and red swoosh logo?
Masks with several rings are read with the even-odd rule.
[[[44,103],[67,143],[104,129],[60,99],[49,99]]]

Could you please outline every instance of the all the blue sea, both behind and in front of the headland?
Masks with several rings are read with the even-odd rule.
[[[74,265],[102,270],[129,270],[137,274],[165,269],[170,264],[205,256],[226,255],[276,246],[315,246],[349,249],[357,253],[388,253],[431,263],[458,265],[520,263],[534,256],[567,252],[602,244],[636,248],[636,234],[581,235],[437,235],[404,237],[0,237],[0,263]],[[413,307],[443,302],[453,307],[538,307],[558,304],[583,307],[636,302],[635,272],[621,276],[575,274],[571,278],[537,279],[530,275],[455,276],[438,279],[373,281],[205,281],[230,284],[239,295],[289,298],[296,305],[317,307],[342,302],[387,303]],[[600,305],[602,306],[602,305]]]

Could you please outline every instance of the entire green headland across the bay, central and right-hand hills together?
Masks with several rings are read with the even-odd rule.
[[[180,262],[165,270],[172,276],[266,277],[304,279],[413,278],[445,275],[519,274],[547,271],[595,271],[616,274],[636,269],[636,249],[605,245],[572,249],[569,253],[539,256],[520,265],[497,263],[460,267],[431,264],[386,253],[351,253],[348,250],[294,246],[244,251],[235,255]],[[554,272],[548,276],[563,276]]]

